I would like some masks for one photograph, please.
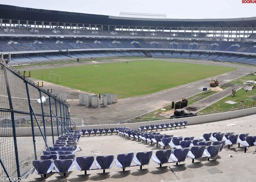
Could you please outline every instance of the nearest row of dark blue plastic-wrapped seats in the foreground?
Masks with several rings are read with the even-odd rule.
[[[52,163],[52,159],[46,160],[38,160],[33,161],[33,166],[35,168],[35,173],[44,175],[50,173],[55,167],[57,173],[68,173],[72,170],[75,162],[76,167],[80,171],[84,171],[87,174],[88,170],[93,170],[94,163],[97,166],[97,169],[102,169],[103,173],[105,173],[106,169],[110,169],[113,166],[113,161],[116,165],[120,168],[125,170],[126,167],[132,167],[132,161],[136,164],[135,166],[140,166],[142,169],[143,165],[148,165],[150,163],[150,159],[152,158],[154,162],[160,165],[160,167],[165,163],[172,163],[175,162],[176,165],[179,162],[184,162],[187,157],[192,159],[202,158],[203,155],[207,157],[207,160],[212,157],[217,157],[221,145],[217,146],[194,146],[189,151],[189,148],[184,149],[167,149],[167,150],[159,150],[156,151],[155,156],[152,156],[153,151],[146,151],[146,152],[138,152],[134,157],[133,152],[127,154],[119,154],[117,155],[117,159],[114,160],[114,155],[107,155],[107,156],[97,156],[96,160],[94,161],[93,156],[86,156],[86,157],[77,157],[74,161],[72,159],[57,159]],[[72,155],[72,154],[69,154]],[[69,155],[66,155],[69,157]],[[71,157],[72,158],[72,157]]]

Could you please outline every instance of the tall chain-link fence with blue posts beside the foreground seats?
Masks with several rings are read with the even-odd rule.
[[[71,129],[68,105],[0,62],[0,177],[23,177]]]

